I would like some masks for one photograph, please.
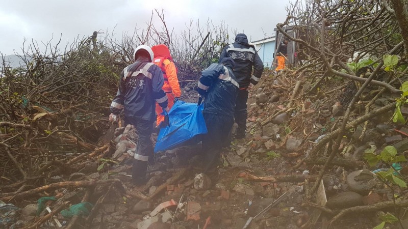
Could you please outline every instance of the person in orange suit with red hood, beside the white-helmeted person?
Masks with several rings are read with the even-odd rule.
[[[168,107],[171,109],[171,107],[174,104],[174,101],[176,99],[179,99],[182,94],[182,92],[180,91],[179,79],[177,78],[177,69],[174,65],[173,58],[171,58],[169,48],[166,45],[164,44],[155,45],[151,47],[151,49],[155,54],[153,63],[159,66],[163,72],[164,76],[163,91],[167,95]],[[157,113],[156,126],[159,126],[160,123],[164,121],[164,116],[162,115],[163,109],[158,103],[156,103],[156,113]]]

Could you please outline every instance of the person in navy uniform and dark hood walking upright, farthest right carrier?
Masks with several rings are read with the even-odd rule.
[[[234,75],[239,84],[234,115],[235,122],[238,124],[236,138],[243,138],[246,135],[248,91],[258,83],[264,66],[253,45],[248,44],[245,34],[237,34],[234,44],[230,44],[222,50],[220,61],[226,57],[235,61]],[[251,75],[252,68],[253,74]]]

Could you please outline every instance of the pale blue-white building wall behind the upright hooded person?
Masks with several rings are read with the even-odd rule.
[[[273,56],[275,55],[275,36],[252,41],[265,67],[272,68]]]

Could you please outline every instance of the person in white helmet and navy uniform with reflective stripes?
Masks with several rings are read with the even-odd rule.
[[[169,110],[167,96],[162,89],[163,73],[151,63],[153,56],[153,51],[146,45],[136,48],[135,62],[121,72],[119,90],[110,106],[112,113],[109,120],[114,121],[123,107],[125,124],[134,125],[139,135],[132,166],[132,178],[136,184],[145,182],[147,162],[154,157],[150,136],[155,122],[156,102],[164,110]]]

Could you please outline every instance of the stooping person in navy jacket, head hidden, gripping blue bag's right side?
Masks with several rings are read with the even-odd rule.
[[[224,58],[221,64],[212,64],[203,70],[198,82],[198,93],[204,98],[202,113],[208,130],[202,139],[202,148],[208,158],[205,173],[216,168],[221,148],[230,145],[228,134],[234,124],[239,89],[234,66],[234,60]]]

